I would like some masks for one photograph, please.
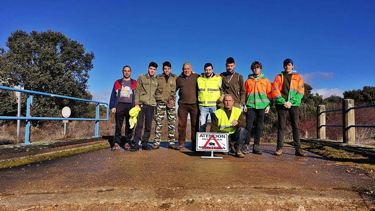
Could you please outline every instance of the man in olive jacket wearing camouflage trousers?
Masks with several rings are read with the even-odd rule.
[[[177,75],[171,73],[171,63],[163,63],[163,73],[156,76],[157,90],[155,94],[155,138],[151,149],[159,149],[162,134],[163,120],[166,113],[168,122],[169,148],[175,149],[174,127],[176,125],[176,79]]]

